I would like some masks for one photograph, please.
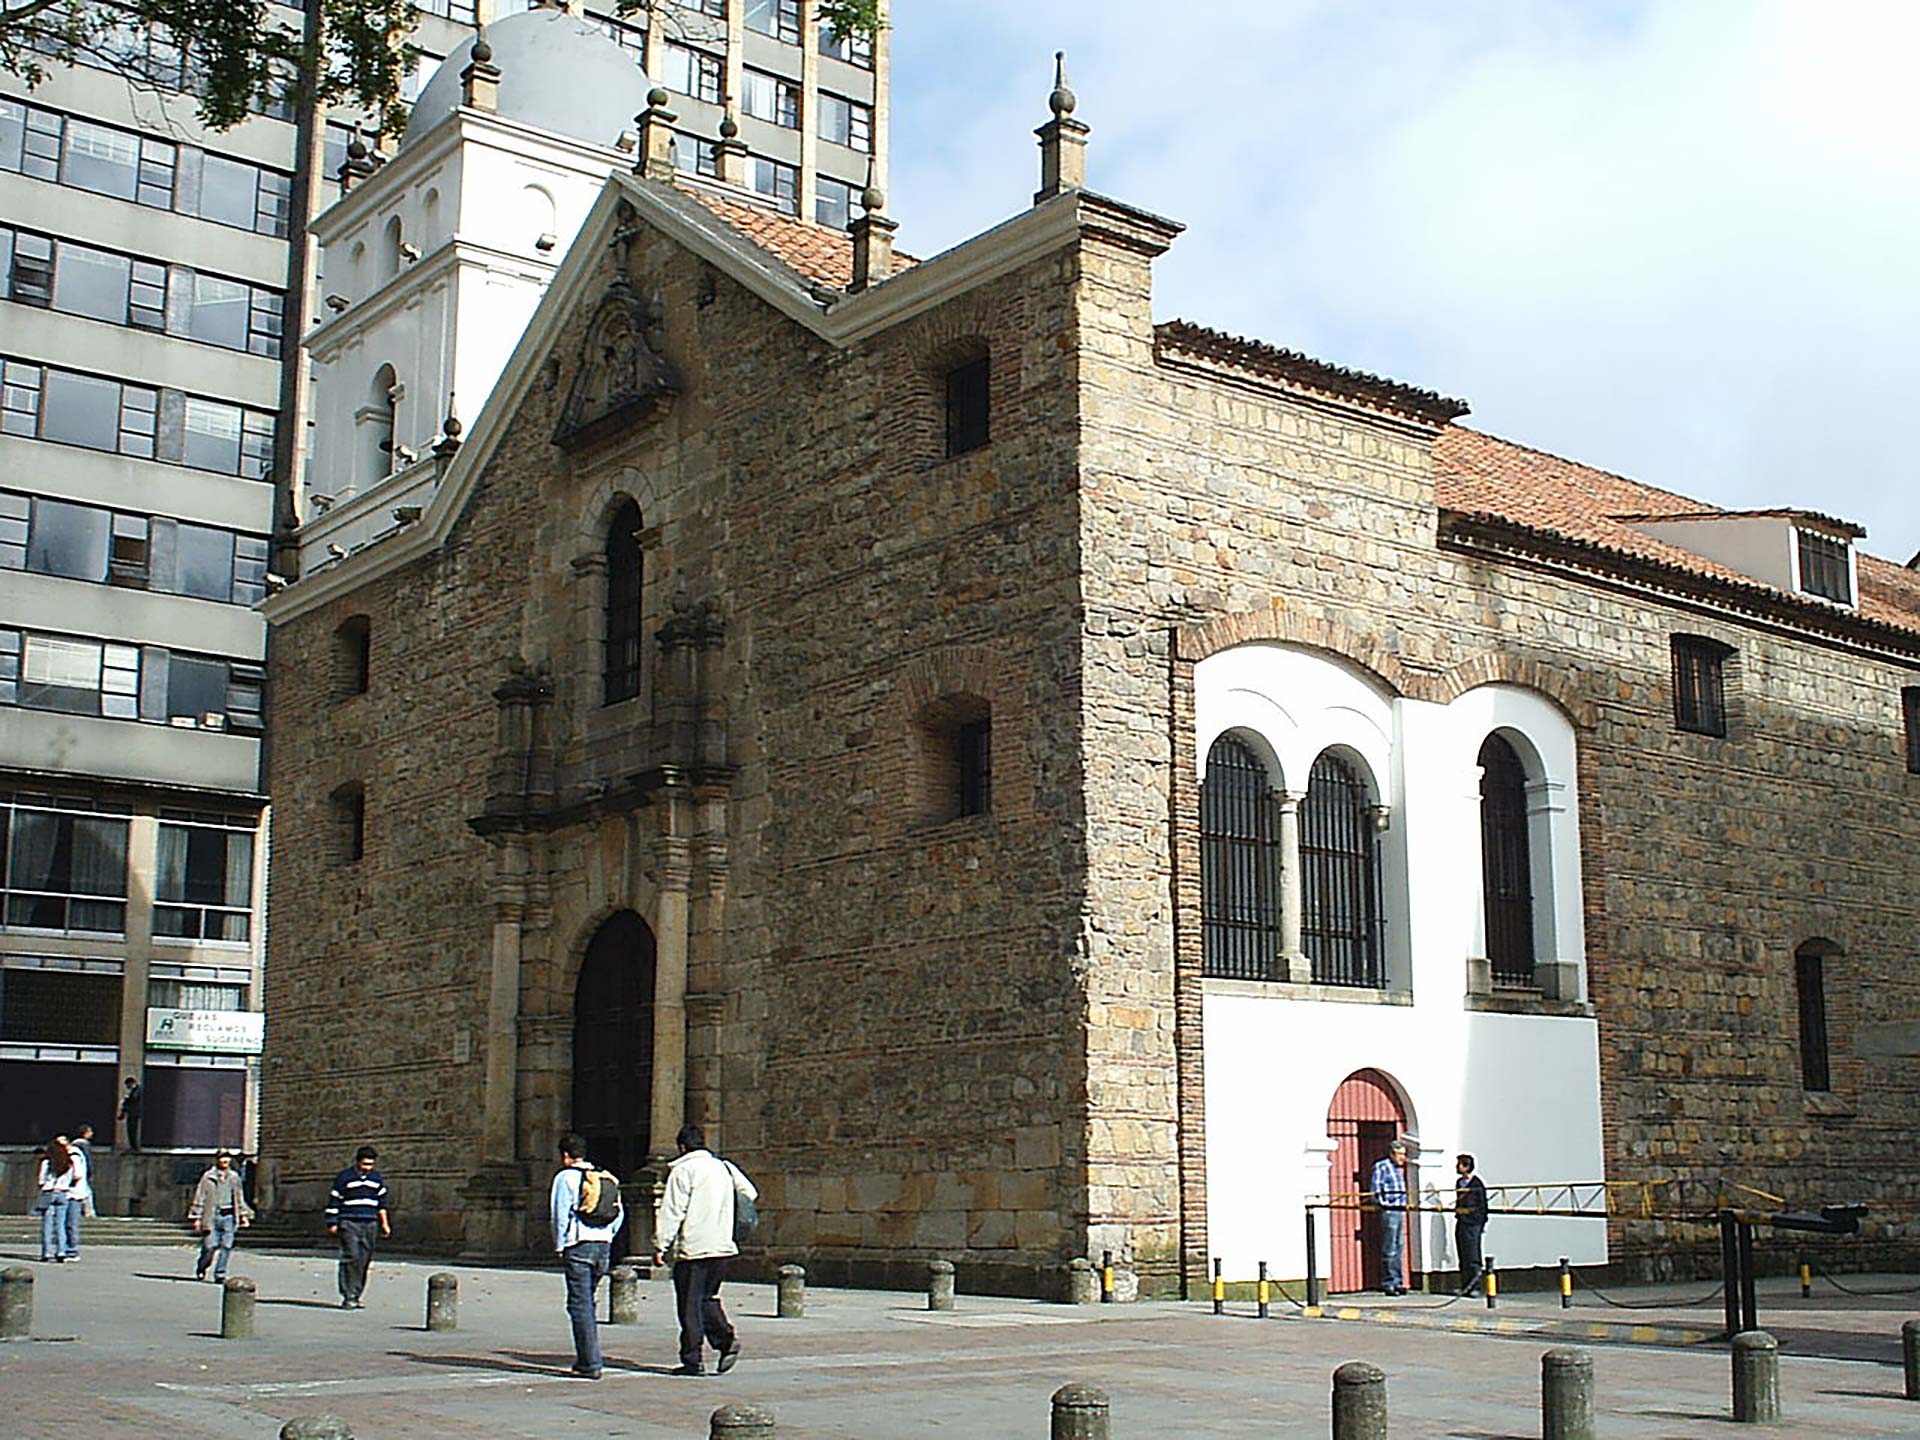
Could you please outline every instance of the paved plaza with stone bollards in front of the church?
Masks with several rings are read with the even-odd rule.
[[[4,1263],[27,1252],[0,1252]],[[234,1273],[259,1286],[257,1338],[221,1340],[221,1292],[192,1281],[192,1250],[98,1246],[77,1265],[31,1265],[35,1340],[0,1346],[0,1436],[169,1436],[271,1440],[296,1415],[334,1413],[359,1440],[632,1436],[693,1440],[726,1402],[770,1407],[783,1440],[1044,1436],[1048,1398],[1085,1380],[1114,1396],[1114,1434],[1323,1436],[1329,1377],[1348,1359],[1388,1373],[1396,1436],[1523,1440],[1540,1434],[1540,1354],[1572,1334],[1475,1334],[1478,1302],[1425,1309],[1409,1296],[1394,1319],[1275,1319],[1250,1304],[1215,1317],[1206,1304],[1066,1308],[960,1296],[933,1315],[924,1296],[872,1290],[808,1294],[804,1319],[774,1319],[770,1286],[730,1284],[745,1344],[726,1377],[676,1379],[672,1288],[641,1284],[641,1321],[609,1327],[597,1382],[572,1361],[561,1277],[378,1260],[365,1311],[338,1309],[328,1256],[238,1252]],[[424,1329],[426,1277],[461,1283],[461,1329]],[[1841,1277],[1899,1288],[1899,1277]],[[1517,1294],[1515,1325],[1628,1321],[1715,1331],[1718,1308],[1678,1304],[1709,1286],[1620,1294],[1636,1311],[1582,1296]],[[1786,1423],[1751,1434],[1920,1436],[1920,1404],[1903,1400],[1899,1327],[1920,1294],[1799,1298],[1763,1284],[1761,1323],[1782,1340]],[[603,1292],[605,1304],[605,1292]],[[1624,1329],[1620,1331],[1624,1340]],[[1647,1331],[1642,1331],[1647,1334]],[[1724,1346],[1594,1344],[1599,1434],[1728,1434]]]

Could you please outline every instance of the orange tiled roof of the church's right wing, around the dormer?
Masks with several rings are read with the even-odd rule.
[[[1805,605],[1809,614],[1834,614],[1832,607],[1655,540],[1622,518],[1699,518],[1753,515],[1753,511],[1715,511],[1670,490],[1644,486],[1459,424],[1448,426],[1434,445],[1434,503],[1461,518],[1500,520],[1572,541],[1603,559],[1644,561],[1695,578],[1764,591],[1774,599]],[[1778,515],[1809,513],[1778,511]],[[1920,572],[1860,553],[1859,576],[1862,618],[1920,634]]]

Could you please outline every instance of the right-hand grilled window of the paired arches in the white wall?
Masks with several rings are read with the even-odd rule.
[[[1317,985],[1386,985],[1375,814],[1367,781],[1321,753],[1300,803],[1300,937]]]

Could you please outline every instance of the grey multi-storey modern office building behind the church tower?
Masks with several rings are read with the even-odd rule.
[[[422,6],[405,98],[476,25],[526,8]],[[812,10],[589,19],[676,92],[685,169],[712,169],[732,108],[768,204],[845,225],[868,167],[885,177],[885,36],[820,35]],[[324,282],[288,313],[309,171],[290,108],[202,127],[165,35],[129,27],[48,71],[35,88],[0,73],[0,1146],[81,1119],[106,1139],[127,1079],[146,1146],[252,1146],[269,849],[253,607],[276,436],[305,430],[282,415],[286,349],[326,315]],[[376,163],[392,150],[359,119],[319,132],[315,209],[342,196],[355,129]]]

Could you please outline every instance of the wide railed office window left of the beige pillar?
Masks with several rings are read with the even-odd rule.
[[[6,924],[123,935],[127,814],[106,801],[0,791]]]

